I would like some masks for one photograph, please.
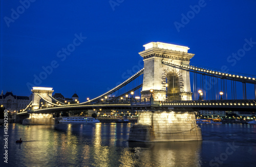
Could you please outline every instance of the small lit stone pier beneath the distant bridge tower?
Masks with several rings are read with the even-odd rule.
[[[55,119],[52,114],[30,114],[23,120],[22,125],[54,125]]]

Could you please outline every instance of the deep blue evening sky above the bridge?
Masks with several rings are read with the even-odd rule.
[[[2,0],[0,89],[29,96],[27,83],[34,84],[42,66],[56,62],[58,67],[39,86],[53,87],[67,98],[76,91],[82,102],[127,79],[124,73],[140,63],[142,45],[152,41],[190,47],[189,53],[196,54],[192,64],[226,65],[230,71],[256,75],[256,44],[235,64],[234,58],[227,61],[243,49],[245,39],[256,41],[256,1],[113,2],[119,6],[112,8],[108,0],[37,0],[23,11],[19,1]],[[189,6],[198,4],[200,11],[188,23],[183,20],[186,25],[178,32],[174,22],[182,23],[182,14],[191,14]],[[75,34],[87,38],[65,60],[57,57]]]

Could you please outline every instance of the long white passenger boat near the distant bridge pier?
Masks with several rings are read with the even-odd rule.
[[[94,117],[63,117],[58,123],[99,123]]]

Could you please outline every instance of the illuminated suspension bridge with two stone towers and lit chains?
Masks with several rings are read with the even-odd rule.
[[[191,65],[190,59],[195,54],[188,53],[189,48],[186,46],[162,42],[151,42],[143,46],[145,50],[139,54],[143,57],[144,68],[113,89],[86,102],[67,104],[52,97],[53,88],[33,87],[32,102],[24,110],[19,111],[17,116],[99,108],[132,109],[139,113],[138,125],[131,129],[132,135],[138,135],[138,129],[141,128],[146,129],[147,135],[155,135],[154,139],[149,135],[151,137],[137,137],[135,140],[165,141],[168,139],[163,137],[163,134],[169,136],[173,132],[159,134],[159,131],[163,131],[161,128],[158,132],[152,130],[153,124],[158,122],[153,117],[160,117],[153,116],[155,112],[168,112],[167,115],[162,113],[168,124],[170,120],[184,117],[179,114],[189,114],[186,115],[189,128],[185,129],[189,129],[190,132],[194,130],[197,136],[201,134],[201,130],[195,127],[191,130],[190,126],[195,126],[195,116],[191,116],[194,111],[256,111],[255,76],[225,73],[221,70]],[[161,136],[158,139],[157,134]],[[200,135],[195,135],[189,135],[185,140],[200,140]],[[135,136],[131,138],[134,140]]]

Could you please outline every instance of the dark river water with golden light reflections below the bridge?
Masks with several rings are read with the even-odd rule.
[[[203,141],[156,143],[127,141],[131,123],[8,126],[0,166],[256,166],[256,125],[199,124]]]

